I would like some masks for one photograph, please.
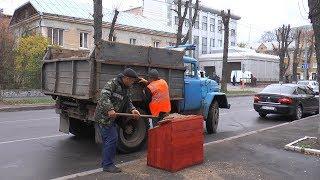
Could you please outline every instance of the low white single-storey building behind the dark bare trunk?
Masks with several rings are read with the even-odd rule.
[[[200,56],[200,68],[221,77],[223,52],[213,50],[212,53]],[[228,77],[233,70],[250,71],[260,82],[276,82],[279,80],[279,57],[256,53],[252,49],[231,47],[228,53]]]

